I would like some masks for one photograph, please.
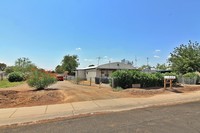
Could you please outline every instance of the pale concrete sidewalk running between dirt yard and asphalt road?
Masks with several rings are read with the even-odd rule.
[[[148,98],[119,98],[94,100],[66,104],[0,109],[0,126],[37,122],[62,117],[75,117],[84,114],[117,112],[137,108],[200,100],[200,91],[156,95]]]

